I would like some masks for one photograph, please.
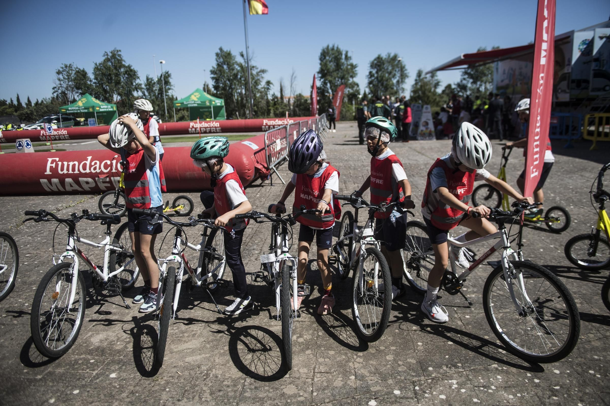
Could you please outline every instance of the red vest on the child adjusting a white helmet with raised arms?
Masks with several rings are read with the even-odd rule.
[[[146,174],[146,164],[144,162],[144,149],[138,149],[135,154],[122,154],[127,161],[127,170],[123,182],[125,184],[125,198],[127,208],[150,208],[151,195],[148,188],[148,175]],[[165,174],[163,166],[159,165],[159,180],[161,191],[167,191],[165,187]]]

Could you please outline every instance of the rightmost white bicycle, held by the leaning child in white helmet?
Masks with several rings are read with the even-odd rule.
[[[442,288],[449,294],[461,292],[466,278],[484,260],[500,251],[501,264],[490,272],[483,288],[483,306],[489,326],[498,340],[517,357],[537,363],[559,361],[567,357],[578,342],[578,308],[558,277],[540,265],[519,260],[519,252],[511,249],[511,242],[516,237],[509,240],[505,224],[519,221],[524,210],[536,205],[515,202],[513,207],[512,212],[490,208],[489,219],[498,224],[496,233],[465,243],[448,238],[450,252],[451,246],[462,248],[498,241],[459,276],[450,255],[451,270],[445,271]],[[415,291],[425,293],[428,274],[434,265],[434,251],[426,226],[420,221],[407,223],[404,257],[407,281]]]

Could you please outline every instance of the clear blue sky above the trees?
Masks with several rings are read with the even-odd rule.
[[[73,62],[91,73],[104,51],[121,49],[140,77],[154,75],[152,55],[171,71],[175,93],[187,96],[209,81],[219,46],[245,49],[240,0],[179,2],[4,1],[4,62],[0,98],[25,102],[51,96],[54,71]],[[52,5],[56,4],[56,5]],[[356,80],[366,84],[368,62],[397,52],[409,70],[429,69],[478,46],[524,45],[534,38],[536,1],[292,1],[267,0],[269,15],[248,16],[254,63],[279,89],[296,71],[297,92],[309,94],[320,49],[335,43],[353,52]],[[608,0],[557,0],[556,33],[601,23]],[[204,69],[206,71],[204,72]],[[444,84],[459,71],[439,73]]]

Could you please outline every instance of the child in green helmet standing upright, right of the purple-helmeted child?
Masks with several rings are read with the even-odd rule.
[[[400,159],[388,147],[397,137],[397,129],[383,117],[373,117],[365,124],[367,151],[371,158],[371,174],[362,183],[357,195],[369,187],[371,204],[399,202],[400,207],[414,208],[411,200],[411,184],[404,173]],[[392,300],[404,293],[403,258],[400,249],[406,238],[406,216],[394,208],[391,213],[375,213],[376,232],[381,234],[381,251],[392,269]]]

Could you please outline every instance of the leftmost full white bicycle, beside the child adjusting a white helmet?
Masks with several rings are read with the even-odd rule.
[[[66,251],[59,256],[57,262],[53,258],[54,266],[40,280],[30,316],[32,339],[40,354],[48,358],[59,358],[76,342],[85,316],[87,299],[85,279],[83,272],[79,271],[81,260],[91,270],[93,286],[118,294],[126,308],[130,307],[122,291],[134,286],[139,270],[137,266],[135,271],[126,268],[134,262],[131,251],[117,240],[110,244],[110,227],[120,223],[118,215],[89,213],[88,210],[83,210],[82,215],[72,213],[70,218],[65,219],[46,210],[27,211],[25,215],[35,217],[25,219],[23,223],[30,220],[35,223],[56,221],[67,226]],[[98,244],[79,237],[76,223],[82,219],[101,221],[102,226],[106,226],[106,238]],[[77,242],[104,248],[104,265],[101,269],[77,247]]]

